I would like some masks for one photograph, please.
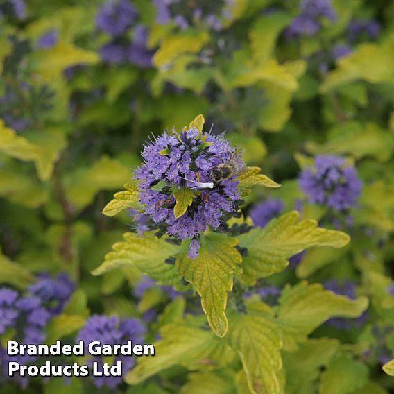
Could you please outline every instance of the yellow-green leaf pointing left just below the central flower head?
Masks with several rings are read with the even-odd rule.
[[[135,266],[146,275],[162,284],[179,284],[180,278],[175,266],[165,264],[165,260],[179,252],[179,246],[166,242],[164,238],[139,237],[126,232],[124,241],[114,243],[113,251],[105,255],[103,264],[93,275],[101,275],[114,268]]]

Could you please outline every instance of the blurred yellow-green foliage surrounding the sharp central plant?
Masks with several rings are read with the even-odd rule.
[[[91,274],[131,224],[126,210],[113,218],[101,212],[112,194],[130,182],[152,132],[180,130],[203,113],[205,127],[213,124],[216,132],[228,132],[234,145],[245,148],[248,165],[261,166],[282,183],[281,189],[254,189],[245,214],[270,197],[282,198],[286,210],[305,200],[296,179],[315,155],[342,155],[356,166],[363,191],[352,212],[355,224],[339,225],[352,237],[350,244],[340,250],[311,248],[297,268],[286,268],[265,283],[282,288],[304,279],[350,280],[357,294],[369,300],[368,320],[350,330],[323,325],[295,353],[284,352],[286,373],[279,372],[280,384],[286,393],[393,390],[393,379],[381,369],[394,351],[389,290],[394,258],[393,2],[333,0],[334,20],[323,15],[313,35],[289,37],[289,26],[301,12],[298,1],[236,0],[219,29],[194,22],[182,30],[172,22],[157,22],[155,2],[135,0],[137,22],[121,40],[136,42],[136,26],[145,26],[146,42],[137,61],[129,56],[119,62],[103,55],[103,46],[114,38],[97,26],[100,1],[30,0],[24,15],[12,11],[14,3],[0,2],[0,281],[24,289],[36,273],[67,272],[78,284],[75,298],[86,304],[78,315],[83,318],[67,320],[67,338],[89,313],[144,320],[154,308],[164,317],[148,323],[146,341],[153,341],[163,319],[171,321],[162,314],[164,307],[175,301],[164,293],[144,302],[135,297],[137,268]],[[185,10],[193,7],[193,1],[185,3]],[[211,12],[215,4],[204,6]],[[352,38],[351,23],[360,20],[377,22],[378,33],[366,29]],[[47,34],[53,40],[42,44]],[[345,56],[336,55],[339,46],[346,46]],[[146,55],[148,64],[142,61]],[[318,205],[305,203],[302,209],[302,219],[317,219],[326,227],[332,226],[330,215]],[[194,312],[202,313],[197,295],[188,297]],[[118,390],[250,392],[239,361],[226,363],[225,357],[219,357],[218,368],[190,362]],[[54,381],[34,381],[31,389],[50,393]],[[0,392],[15,387],[10,382]],[[61,390],[82,392],[83,384],[78,380]]]

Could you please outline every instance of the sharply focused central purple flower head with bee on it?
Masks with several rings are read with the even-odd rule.
[[[217,228],[223,215],[234,214],[241,194],[235,176],[212,182],[211,170],[227,162],[233,153],[223,135],[200,135],[196,128],[154,137],[142,152],[144,163],[135,171],[144,214],[178,239],[197,237],[209,226]],[[244,165],[239,158],[237,165]],[[201,182],[212,188],[200,186]],[[189,189],[185,192],[191,194],[192,202],[177,218],[173,213],[174,191],[182,189]]]

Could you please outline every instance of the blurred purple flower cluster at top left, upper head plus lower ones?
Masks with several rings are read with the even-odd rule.
[[[108,63],[130,62],[142,68],[152,66],[153,51],[148,49],[148,31],[138,21],[139,12],[129,0],[108,0],[99,10],[96,25],[111,40],[100,49]],[[132,28],[132,39],[128,37]]]

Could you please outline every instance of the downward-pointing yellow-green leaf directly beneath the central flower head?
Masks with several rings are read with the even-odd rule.
[[[218,336],[225,336],[228,330],[227,293],[232,290],[234,275],[242,273],[241,255],[234,248],[237,241],[223,234],[207,234],[201,237],[200,243],[200,255],[196,259],[189,259],[185,252],[176,265],[180,275],[200,294],[211,328]]]

